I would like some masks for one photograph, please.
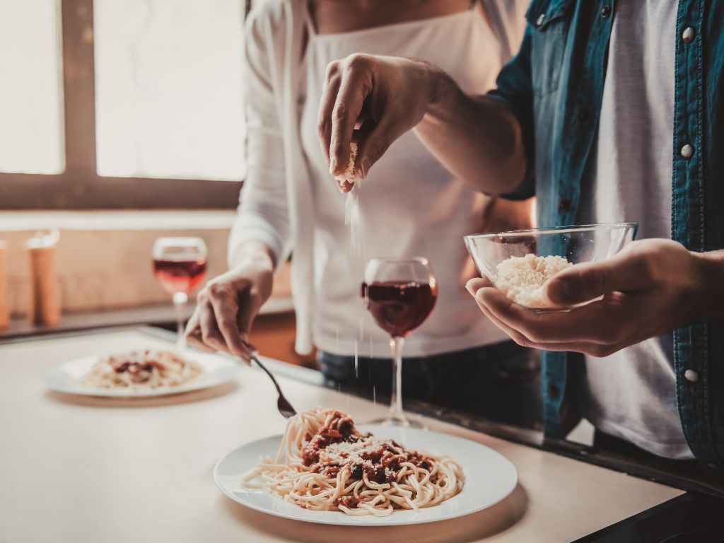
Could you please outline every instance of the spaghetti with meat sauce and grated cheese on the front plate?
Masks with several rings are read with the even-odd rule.
[[[463,469],[449,456],[361,434],[345,413],[315,409],[289,419],[277,458],[262,458],[243,486],[309,510],[386,516],[455,496]]]

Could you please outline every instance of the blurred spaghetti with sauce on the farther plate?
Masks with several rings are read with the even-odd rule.
[[[132,351],[101,358],[81,382],[101,390],[154,389],[183,384],[201,371],[197,363],[167,350]]]

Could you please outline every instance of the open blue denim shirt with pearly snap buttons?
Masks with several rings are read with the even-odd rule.
[[[534,0],[521,51],[489,95],[521,123],[529,172],[510,197],[536,194],[541,227],[576,221],[598,132],[615,3]],[[693,39],[691,30],[684,38],[688,28]],[[679,0],[675,35],[661,39],[676,42],[671,238],[691,251],[724,248],[724,0]],[[693,153],[682,153],[687,145]],[[724,321],[691,324],[674,338],[684,435],[696,458],[724,466]],[[581,355],[544,353],[544,421],[552,437],[563,437],[577,420],[567,401],[571,363],[582,363]],[[696,371],[696,382],[684,379],[686,369]]]

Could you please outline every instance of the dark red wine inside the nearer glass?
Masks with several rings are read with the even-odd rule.
[[[405,337],[434,308],[437,285],[402,281],[362,283],[361,295],[380,328],[392,337]]]

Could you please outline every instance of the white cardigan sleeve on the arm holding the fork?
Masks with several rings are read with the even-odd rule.
[[[271,35],[264,10],[252,12],[245,32],[247,177],[229,237],[229,265],[248,241],[269,247],[277,263],[290,245],[284,141],[279,125],[274,77],[266,37]],[[277,89],[278,90],[278,89]]]

